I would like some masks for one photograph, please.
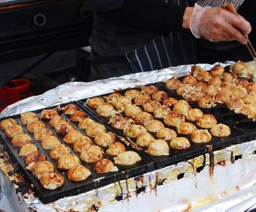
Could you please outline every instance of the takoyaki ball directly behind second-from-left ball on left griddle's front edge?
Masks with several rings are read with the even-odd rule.
[[[59,157],[57,167],[61,170],[69,170],[79,164],[80,160],[78,156],[75,154],[64,154],[63,156]]]

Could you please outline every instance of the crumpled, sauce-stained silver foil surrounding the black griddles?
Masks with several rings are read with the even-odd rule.
[[[232,65],[233,62],[221,64]],[[206,69],[212,65],[200,64]],[[91,83],[65,83],[7,107],[0,118],[43,107],[107,94],[189,73],[191,66],[170,67]],[[209,146],[208,148],[211,148]],[[44,205],[20,185],[26,181],[0,151],[0,209],[5,211],[246,211],[256,204],[256,140],[197,156],[151,173]],[[28,185],[31,186],[31,185]]]

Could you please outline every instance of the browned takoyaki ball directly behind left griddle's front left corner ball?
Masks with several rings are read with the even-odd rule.
[[[53,173],[54,167],[53,164],[48,161],[38,162],[34,164],[34,166],[31,168],[31,171],[33,175],[35,175],[40,180],[42,175]]]

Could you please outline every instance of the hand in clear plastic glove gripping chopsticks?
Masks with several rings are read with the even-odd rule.
[[[246,44],[245,35],[252,30],[250,23],[241,15],[222,9],[221,7],[200,7],[195,4],[189,28],[195,37],[213,41],[237,40]]]

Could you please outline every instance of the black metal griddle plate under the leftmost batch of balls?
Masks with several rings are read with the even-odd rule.
[[[76,102],[69,102],[68,104],[65,104],[65,105],[69,105],[69,104],[78,105]],[[65,106],[65,105],[61,105],[61,107]],[[78,107],[80,110],[83,110],[83,108],[80,107],[80,105],[78,105]],[[49,107],[49,108],[45,108],[45,109],[51,109],[51,108],[53,108],[53,107]],[[36,111],[32,111],[32,112],[37,113],[37,116],[40,117],[41,111],[42,110],[36,110]],[[95,120],[95,118],[91,117],[89,113],[86,113],[86,114],[88,115],[89,118],[92,118]],[[63,116],[67,121],[69,121],[69,117],[65,116],[64,113],[60,113],[60,116]],[[44,150],[41,147],[41,143],[37,140],[34,140],[33,134],[26,130],[26,126],[21,124],[20,115],[15,115],[15,116],[10,116],[10,117],[5,117],[5,118],[14,118],[18,122],[18,124],[20,124],[20,126],[23,126],[24,132],[27,135],[30,135],[30,137],[32,138],[32,143],[34,143],[34,145],[37,145],[39,152],[44,154],[46,156],[47,160],[49,162],[51,162],[54,165],[54,167],[56,168],[57,161],[50,158],[50,156],[49,156],[50,151]],[[5,118],[2,118],[1,120],[5,119]],[[61,140],[61,143],[64,143],[64,141],[62,140],[62,137],[57,135],[55,130],[48,125],[48,121],[45,121],[45,120],[42,120],[42,121],[46,124],[47,128],[50,129],[53,132],[53,134],[59,138],[59,140]],[[97,122],[97,120],[95,120],[95,121]],[[73,126],[75,126],[76,130],[83,132],[83,135],[84,135],[84,131],[79,129],[77,124],[75,124],[74,122],[71,122],[71,121],[69,121],[69,122],[72,123]],[[108,132],[112,131],[108,125],[105,124],[105,127]],[[11,139],[7,138],[4,135],[4,131],[2,131],[2,130],[0,130],[0,140],[2,143],[4,143],[5,148],[10,153],[10,158],[13,160],[13,162],[15,162],[15,164],[18,165],[18,168],[20,168],[21,172],[26,175],[26,178],[29,179],[29,181],[31,181],[34,184],[35,192],[39,196],[39,199],[43,203],[53,202],[54,200],[58,200],[62,197],[80,194],[82,192],[89,191],[90,189],[94,189],[99,186],[105,186],[109,183],[113,183],[115,181],[119,181],[124,178],[129,178],[129,177],[132,177],[135,175],[136,176],[142,175],[143,173],[154,170],[153,164],[151,162],[148,162],[148,160],[146,160],[145,157],[143,157],[141,154],[140,154],[141,161],[138,162],[138,164],[134,164],[134,165],[128,166],[128,167],[122,167],[120,165],[115,164],[116,167],[118,167],[118,172],[116,172],[116,173],[105,173],[105,174],[94,173],[94,171],[92,170],[93,164],[89,164],[89,163],[86,163],[86,162],[83,162],[80,160],[80,164],[89,168],[89,170],[91,171],[91,176],[89,178],[87,178],[84,181],[80,181],[80,182],[72,182],[72,181],[69,181],[67,178],[67,175],[66,175],[67,171],[58,170],[56,168],[56,173],[60,173],[61,175],[64,176],[65,183],[63,186],[61,186],[58,189],[48,190],[48,189],[42,188],[42,186],[40,186],[40,184],[39,184],[39,180],[37,180],[37,178],[34,175],[32,175],[32,173],[29,170],[26,170],[26,164],[24,162],[26,157],[18,155],[18,151],[20,148],[12,146]],[[92,139],[92,141],[94,143],[93,139]],[[125,145],[125,147],[127,148],[127,151],[129,151],[129,150],[134,151],[132,148],[127,146],[121,140],[120,140],[120,142]],[[69,145],[67,143],[64,143],[64,144],[69,146],[69,148],[71,149],[71,154],[76,154],[79,157],[78,153],[76,153],[75,151],[72,151],[72,145]],[[103,150],[105,151],[106,148],[103,148]],[[110,159],[113,162],[113,156],[105,154],[105,158]]]

